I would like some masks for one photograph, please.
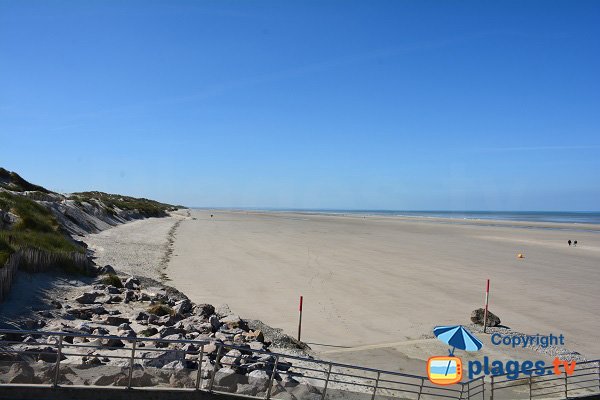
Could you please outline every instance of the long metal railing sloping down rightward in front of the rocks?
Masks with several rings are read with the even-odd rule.
[[[0,334],[5,335],[0,341],[0,386],[169,387],[267,400],[289,398],[286,392],[299,400],[485,398],[484,377],[437,386],[424,376],[218,341],[22,330]],[[31,339],[24,343],[27,336]]]

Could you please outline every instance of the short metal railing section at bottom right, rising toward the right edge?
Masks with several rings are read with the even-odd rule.
[[[554,365],[526,370],[527,377],[509,378],[511,373],[491,376],[490,400],[536,399],[588,396],[600,393],[600,360],[577,362],[567,374],[564,367],[557,372]],[[518,376],[525,374],[519,371]]]

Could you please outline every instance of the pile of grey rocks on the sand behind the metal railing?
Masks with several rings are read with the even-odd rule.
[[[302,394],[301,398],[318,395],[319,391],[299,373],[290,371],[291,363],[283,359],[275,363],[263,331],[251,329],[228,307],[194,304],[173,289],[156,282],[154,287],[144,285],[135,277],[114,283],[116,286],[84,286],[73,299],[54,300],[50,310],[39,313],[37,325],[28,327],[73,333],[63,337],[66,356],[61,361],[60,383],[127,385],[131,355],[131,340],[127,339],[144,338],[136,342],[134,386],[195,387],[198,363],[202,362],[204,386],[214,372],[213,389],[217,391],[262,395],[273,377],[273,394],[291,399],[298,398],[296,394]],[[48,346],[56,343],[56,337],[13,335],[4,339],[20,340],[13,348],[31,356],[20,358],[28,361],[19,363],[26,367],[8,371],[0,367],[0,376],[7,377],[8,383],[51,382],[45,364],[56,361],[56,347]],[[205,344],[201,349],[199,343],[185,342],[189,340]],[[94,372],[95,367],[102,366],[112,367],[111,372]]]

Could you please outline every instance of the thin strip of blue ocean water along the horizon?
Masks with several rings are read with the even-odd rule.
[[[401,210],[273,210],[322,214],[390,215],[403,217],[452,218],[462,220],[500,220],[600,224],[600,212],[593,211],[401,211]]]

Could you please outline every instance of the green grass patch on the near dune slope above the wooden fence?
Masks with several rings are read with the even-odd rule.
[[[0,192],[0,209],[16,214],[19,219],[10,230],[0,230],[0,266],[19,249],[37,248],[49,253],[83,253],[85,249],[60,230],[50,210],[26,197]],[[64,267],[67,265],[65,258]]]

